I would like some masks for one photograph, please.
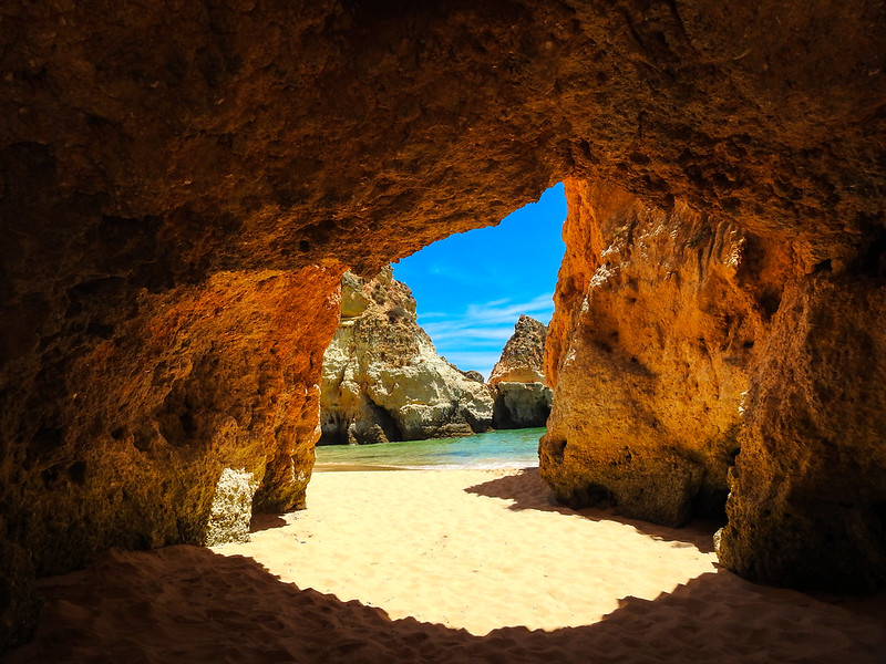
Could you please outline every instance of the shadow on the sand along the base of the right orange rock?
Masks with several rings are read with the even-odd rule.
[[[542,479],[538,468],[524,468],[517,475],[508,475],[467,487],[465,491],[477,496],[512,500],[511,509],[514,510],[555,511],[564,515],[580,515],[591,521],[626,523],[653,539],[693,546],[704,553],[713,552],[713,533],[722,526],[722,523],[715,521],[697,520],[682,528],[668,528],[667,526],[657,526],[648,521],[619,516],[612,509],[594,507],[578,510],[571,509],[557,502],[554,491]]]

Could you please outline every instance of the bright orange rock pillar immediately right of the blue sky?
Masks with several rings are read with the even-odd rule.
[[[568,181],[540,469],[574,506],[679,525],[722,510],[740,406],[786,267],[678,204]]]

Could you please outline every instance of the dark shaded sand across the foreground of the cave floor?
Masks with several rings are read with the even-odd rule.
[[[589,583],[591,579],[576,579]],[[886,624],[728,572],[653,601],[625,598],[602,621],[485,636],[300,590],[250,558],[196,547],[110,551],[40,582],[34,641],[6,664],[45,662],[882,662]],[[440,592],[446,592],[440,588]],[[503,589],[503,592],[507,592]],[[513,598],[530,603],[533,598]]]

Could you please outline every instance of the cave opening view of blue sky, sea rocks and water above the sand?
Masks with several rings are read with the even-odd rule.
[[[536,428],[537,442],[553,402],[544,352],[566,207],[558,184],[495,226],[439,240],[372,278],[344,274],[341,321],[323,359],[320,463],[399,460],[392,448],[329,445],[412,440],[403,453],[414,463],[419,442],[446,439],[423,448],[450,460],[454,438],[473,434]],[[515,445],[526,447],[519,463],[528,457],[525,437],[493,438],[473,439],[459,459],[470,463],[473,449],[494,463],[495,449]]]

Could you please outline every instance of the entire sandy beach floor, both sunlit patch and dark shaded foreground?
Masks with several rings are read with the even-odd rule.
[[[40,582],[43,662],[882,662],[883,595],[718,569],[713,526],[557,506],[537,470],[316,473],[251,541]]]

